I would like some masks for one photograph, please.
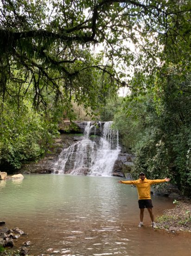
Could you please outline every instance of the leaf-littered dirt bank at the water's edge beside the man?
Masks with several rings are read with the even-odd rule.
[[[169,232],[191,232],[191,201],[178,201],[174,209],[167,209],[156,217],[157,228]]]

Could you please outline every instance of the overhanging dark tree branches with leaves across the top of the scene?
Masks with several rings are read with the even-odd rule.
[[[2,99],[6,94],[23,97],[33,86],[34,105],[45,106],[43,91],[49,87],[56,96],[64,95],[67,101],[73,97],[95,108],[95,101],[89,100],[104,88],[91,86],[92,68],[102,72],[114,92],[120,86],[140,90],[142,87],[129,84],[127,68],[151,74],[159,68],[158,60],[166,58],[168,50],[164,46],[168,41],[176,53],[177,40],[184,41],[185,51],[179,54],[184,55],[189,45],[189,11],[189,0],[2,0]],[[89,47],[99,43],[105,47],[105,63],[101,58],[89,62]],[[135,51],[130,47],[132,43]],[[79,80],[82,76],[86,83]],[[10,81],[17,88],[26,84],[25,93],[11,91]]]

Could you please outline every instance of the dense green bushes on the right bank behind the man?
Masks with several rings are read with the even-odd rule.
[[[190,195],[191,76],[169,74],[163,86],[156,81],[146,95],[126,98],[115,126],[136,154],[134,178],[140,170],[151,179],[168,176]]]

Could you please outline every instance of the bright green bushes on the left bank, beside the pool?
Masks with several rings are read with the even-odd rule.
[[[26,160],[35,161],[44,155],[54,136],[57,124],[47,116],[36,113],[30,102],[23,101],[18,109],[10,102],[4,104],[0,116],[0,167],[9,171],[19,169]]]

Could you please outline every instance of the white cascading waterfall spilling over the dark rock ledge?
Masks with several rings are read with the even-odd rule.
[[[87,122],[84,136],[69,148],[64,149],[55,164],[54,173],[72,175],[111,176],[114,163],[120,153],[118,131],[111,129],[112,121],[91,125]],[[102,136],[94,136],[99,126]]]

